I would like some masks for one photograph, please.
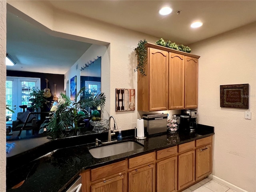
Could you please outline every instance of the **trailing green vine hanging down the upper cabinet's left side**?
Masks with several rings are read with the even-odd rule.
[[[138,46],[134,49],[136,51],[136,56],[138,58],[138,65],[136,67],[136,70],[134,69],[134,72],[140,71],[140,74],[143,76],[146,76],[145,74],[145,62],[148,57],[147,49],[145,48],[145,44],[147,43],[146,39],[143,41],[140,40],[138,42]]]

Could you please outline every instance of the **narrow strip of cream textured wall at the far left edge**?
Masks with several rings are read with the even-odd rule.
[[[6,1],[0,1],[0,191],[6,191]]]

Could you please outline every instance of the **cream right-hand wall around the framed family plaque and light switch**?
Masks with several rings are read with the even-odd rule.
[[[256,191],[256,23],[190,45],[200,55],[199,122],[215,127],[213,175]],[[220,108],[220,85],[250,84],[249,109]],[[244,112],[252,119],[244,119]]]

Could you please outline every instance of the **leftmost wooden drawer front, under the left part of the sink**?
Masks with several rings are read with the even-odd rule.
[[[102,179],[126,170],[126,161],[112,163],[91,170],[91,181]]]

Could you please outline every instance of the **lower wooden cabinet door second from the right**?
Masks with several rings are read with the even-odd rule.
[[[178,156],[178,190],[195,181],[195,151],[189,151]]]

